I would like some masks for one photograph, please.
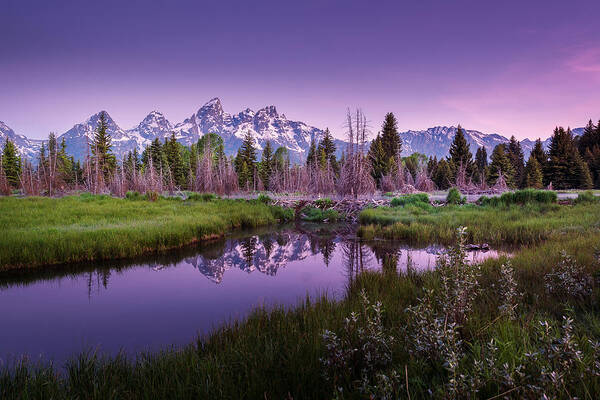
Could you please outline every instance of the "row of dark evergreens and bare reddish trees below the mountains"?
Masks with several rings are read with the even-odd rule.
[[[548,150],[538,139],[527,161],[514,136],[497,145],[491,155],[479,147],[473,157],[460,126],[447,157],[438,160],[419,153],[402,157],[397,125],[394,114],[386,114],[381,130],[368,144],[365,115],[361,110],[348,110],[347,145],[341,157],[336,157],[333,136],[326,129],[320,140],[312,138],[303,165],[290,163],[287,149],[274,149],[270,141],[259,149],[250,132],[235,157],[226,156],[218,134],[205,134],[184,146],[171,133],[163,141],[152,141],[141,154],[134,149],[119,161],[103,113],[81,162],[67,154],[64,139],[58,143],[52,133],[42,144],[36,165],[22,158],[7,138],[0,153],[0,193],[20,189],[28,195],[53,196],[86,190],[123,196],[129,190],[219,194],[267,190],[358,196],[377,189],[410,192],[453,186],[499,191],[600,187],[600,122],[594,125],[589,121],[579,137],[570,129],[557,127]]]

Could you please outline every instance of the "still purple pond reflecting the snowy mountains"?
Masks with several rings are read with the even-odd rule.
[[[260,306],[341,298],[384,261],[430,269],[441,246],[360,243],[342,226],[259,230],[162,255],[0,274],[0,366],[22,357],[62,366],[85,350],[128,355],[191,343]],[[498,252],[470,252],[471,261]]]

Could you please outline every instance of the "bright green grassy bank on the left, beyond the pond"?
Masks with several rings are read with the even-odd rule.
[[[0,197],[0,210],[0,270],[138,256],[292,216],[259,201],[201,197]]]

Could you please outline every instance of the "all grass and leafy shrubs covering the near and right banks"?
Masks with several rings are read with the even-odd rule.
[[[466,222],[463,246],[426,273],[397,273],[392,257],[382,273],[351,280],[342,301],[257,310],[183,349],[135,360],[88,353],[62,374],[22,363],[0,374],[0,397],[593,399],[598,207],[413,202],[369,210],[363,219],[384,216],[386,225],[368,228],[378,234],[410,221],[406,229],[416,224],[456,243]],[[473,266],[463,262],[467,237],[528,246]]]

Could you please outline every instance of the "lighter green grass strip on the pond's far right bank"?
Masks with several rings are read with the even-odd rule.
[[[555,238],[563,240],[577,233],[598,232],[600,204],[559,206],[449,205],[367,209],[360,214],[359,235],[406,240],[411,243],[448,244],[459,226],[468,228],[472,243],[495,245],[534,245]]]

